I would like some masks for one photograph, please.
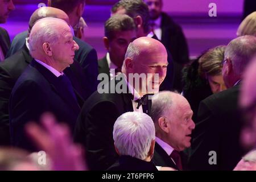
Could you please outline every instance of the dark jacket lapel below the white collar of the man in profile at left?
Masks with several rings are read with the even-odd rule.
[[[65,86],[61,85],[61,82],[55,75],[53,75],[52,72],[50,72],[47,68],[43,67],[43,65],[37,63],[35,60],[32,60],[31,66],[36,68],[46,78],[46,80],[52,86],[52,89],[64,100],[64,102],[66,102],[69,107],[72,107],[74,113],[79,113],[80,107],[77,101],[75,101],[73,97],[67,94],[67,89],[65,88]]]

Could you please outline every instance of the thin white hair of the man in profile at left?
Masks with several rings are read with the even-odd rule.
[[[60,31],[57,28],[57,23],[55,21],[53,22],[52,20],[67,24],[67,22],[65,22],[63,19],[50,17],[39,19],[38,21],[36,21],[35,24],[40,23],[40,28],[38,31],[32,31],[35,26],[32,27],[28,42],[31,55],[33,51],[36,51],[36,49],[40,48],[38,47],[39,44],[42,45],[45,42],[55,44],[58,42],[60,38]]]

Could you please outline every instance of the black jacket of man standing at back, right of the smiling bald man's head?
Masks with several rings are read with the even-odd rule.
[[[188,46],[181,27],[166,13],[161,13],[161,16],[162,43],[171,52],[175,62],[179,64],[188,63]]]

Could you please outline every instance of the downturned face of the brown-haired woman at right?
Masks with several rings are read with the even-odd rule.
[[[226,90],[226,85],[222,75],[208,76],[207,78],[208,78],[208,82],[210,85],[210,89],[212,90],[212,93],[218,93],[223,90]]]

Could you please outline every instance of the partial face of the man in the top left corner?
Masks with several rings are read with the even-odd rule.
[[[5,23],[14,9],[13,0],[0,0],[0,23]]]

